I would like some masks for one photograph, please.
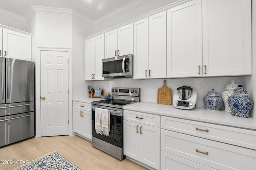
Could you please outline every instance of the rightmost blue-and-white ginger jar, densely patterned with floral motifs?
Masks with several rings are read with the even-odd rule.
[[[231,115],[238,117],[249,117],[249,112],[252,109],[253,101],[248,97],[246,89],[239,85],[228,98],[228,105],[231,109]]]

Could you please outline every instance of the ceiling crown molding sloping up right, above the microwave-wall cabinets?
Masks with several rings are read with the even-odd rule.
[[[110,13],[106,14],[105,16],[98,18],[97,20],[94,20],[94,26],[97,26],[97,25],[102,24],[108,20],[116,18],[117,16],[120,16],[120,15],[122,15],[130,10],[133,10],[134,8],[137,8],[138,6],[146,4],[150,1],[152,1],[152,0],[136,0],[136,1],[130,2],[129,4],[126,4],[125,6],[117,8],[113,12],[110,12]]]

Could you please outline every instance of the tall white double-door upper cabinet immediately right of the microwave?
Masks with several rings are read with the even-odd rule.
[[[166,78],[166,11],[134,22],[134,78]]]

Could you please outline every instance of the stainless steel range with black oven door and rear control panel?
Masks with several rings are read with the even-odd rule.
[[[112,88],[112,99],[92,102],[92,146],[122,160],[124,158],[122,107],[139,101],[140,88]],[[96,107],[109,110],[109,135],[103,135],[96,132]]]

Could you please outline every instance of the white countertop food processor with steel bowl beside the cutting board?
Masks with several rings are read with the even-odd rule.
[[[196,107],[197,93],[190,86],[181,86],[173,95],[173,106],[179,109],[193,109]]]

